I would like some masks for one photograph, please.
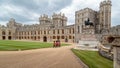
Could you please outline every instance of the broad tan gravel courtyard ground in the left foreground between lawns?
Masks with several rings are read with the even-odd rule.
[[[72,47],[0,51],[0,68],[82,68]]]

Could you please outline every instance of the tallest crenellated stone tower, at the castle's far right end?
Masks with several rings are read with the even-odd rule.
[[[111,6],[112,4],[110,0],[105,0],[100,3],[100,29],[110,29],[111,27]]]

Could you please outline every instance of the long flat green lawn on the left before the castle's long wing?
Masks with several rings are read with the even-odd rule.
[[[66,46],[69,44],[61,44]],[[52,43],[0,40],[0,51],[16,51],[52,47]]]

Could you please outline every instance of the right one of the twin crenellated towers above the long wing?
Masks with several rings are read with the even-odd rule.
[[[64,14],[53,14],[52,16],[52,22],[55,27],[62,27],[67,25],[67,17],[65,17]]]

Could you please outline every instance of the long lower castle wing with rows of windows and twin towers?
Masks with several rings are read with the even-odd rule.
[[[1,40],[37,40],[41,42],[74,42],[74,25],[67,26],[67,17],[64,14],[41,15],[40,24],[23,25],[13,18],[7,27],[0,27]]]

